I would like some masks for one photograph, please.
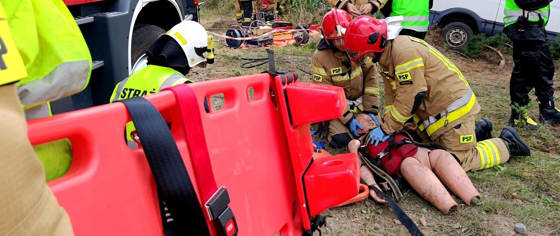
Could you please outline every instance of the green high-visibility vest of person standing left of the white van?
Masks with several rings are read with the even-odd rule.
[[[403,29],[418,32],[428,31],[430,25],[430,1],[428,0],[393,0],[390,16],[403,16]]]

